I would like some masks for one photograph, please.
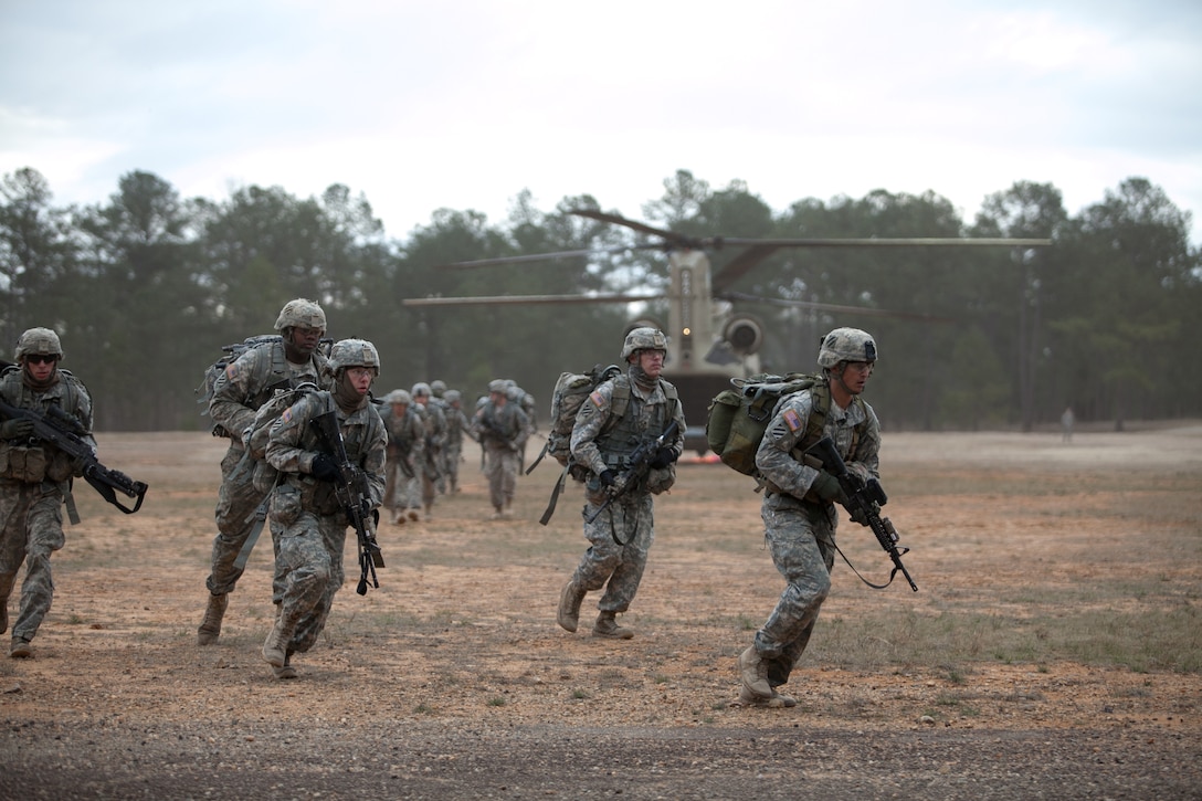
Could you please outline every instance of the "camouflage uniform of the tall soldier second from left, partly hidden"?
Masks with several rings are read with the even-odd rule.
[[[267,497],[252,482],[254,464],[246,455],[242,433],[255,421],[255,411],[267,403],[275,388],[303,382],[327,386],[326,357],[319,351],[305,364],[292,364],[284,357],[284,343],[257,345],[226,368],[218,379],[209,402],[214,423],[230,437],[230,449],[221,459],[221,488],[218,491],[218,535],[213,539],[212,571],[204,585],[214,595],[233,591],[244,566],[238,554],[255,528],[255,515]],[[273,548],[278,548],[273,540]],[[276,551],[278,552],[278,551]],[[272,582],[272,601],[279,603],[282,586]]]

